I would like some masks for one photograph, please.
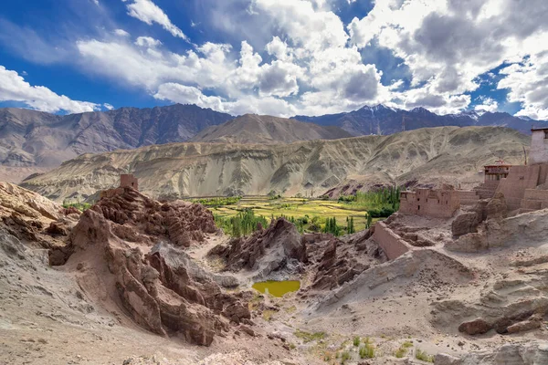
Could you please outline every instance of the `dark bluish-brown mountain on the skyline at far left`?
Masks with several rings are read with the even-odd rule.
[[[233,117],[194,105],[121,108],[58,116],[0,109],[0,176],[18,181],[33,168],[56,167],[81,153],[188,141],[198,131]]]

